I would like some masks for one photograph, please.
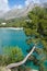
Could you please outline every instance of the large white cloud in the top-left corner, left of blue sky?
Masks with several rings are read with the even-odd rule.
[[[8,0],[0,0],[0,12],[7,12],[9,9]]]

